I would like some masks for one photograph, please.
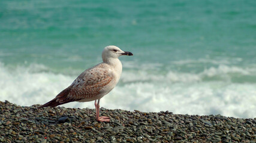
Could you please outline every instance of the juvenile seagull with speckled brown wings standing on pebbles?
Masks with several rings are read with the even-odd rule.
[[[95,100],[96,119],[110,122],[110,117],[100,117],[100,99],[108,94],[120,79],[122,63],[118,59],[121,55],[133,55],[124,52],[117,46],[106,46],[102,52],[103,63],[97,64],[81,73],[74,82],[59,93],[53,100],[42,107],[55,107],[67,102],[88,102]],[[97,102],[98,100],[98,102]]]

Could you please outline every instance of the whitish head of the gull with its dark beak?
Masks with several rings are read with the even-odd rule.
[[[122,49],[118,48],[117,46],[106,46],[103,50],[102,58],[103,61],[106,58],[118,58],[121,55],[133,55],[131,52],[122,51]]]

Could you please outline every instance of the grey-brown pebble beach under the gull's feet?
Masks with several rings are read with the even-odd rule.
[[[255,142],[256,118],[95,109],[23,107],[0,101],[0,142]]]

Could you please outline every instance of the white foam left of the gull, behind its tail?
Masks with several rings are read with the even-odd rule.
[[[19,105],[43,104],[73,82],[74,77],[45,72],[46,69],[37,64],[8,69],[0,64],[0,100]]]

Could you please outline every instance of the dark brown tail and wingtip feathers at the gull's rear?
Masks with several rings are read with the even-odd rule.
[[[44,105],[41,105],[39,108],[43,108],[43,107],[56,107],[58,105],[61,104],[65,104],[67,102],[72,102],[74,100],[67,100],[67,96],[70,93],[70,88],[66,88],[64,89],[64,91],[62,91],[61,93],[59,93],[53,100],[47,102]]]

